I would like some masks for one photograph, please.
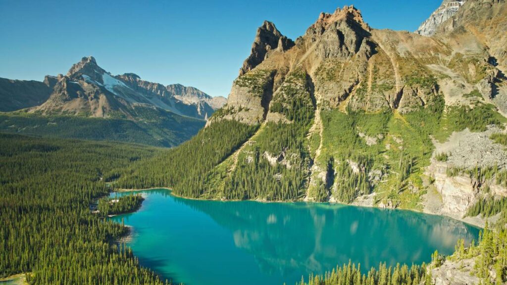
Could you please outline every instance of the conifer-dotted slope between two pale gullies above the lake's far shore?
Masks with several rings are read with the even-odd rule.
[[[295,200],[305,193],[308,150],[299,124],[268,122],[255,144],[246,148],[226,178],[222,193],[227,199]],[[269,162],[267,156],[276,158]],[[280,160],[282,159],[282,160]]]

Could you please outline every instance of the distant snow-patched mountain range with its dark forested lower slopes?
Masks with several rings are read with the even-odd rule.
[[[66,75],[46,76],[44,82],[0,79],[0,100],[0,111],[10,112],[0,116],[2,131],[175,146],[227,99],[132,73],[113,76],[89,56]]]

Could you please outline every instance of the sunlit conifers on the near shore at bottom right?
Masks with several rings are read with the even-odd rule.
[[[429,285],[435,280],[431,269],[440,267],[446,260],[460,263],[461,260],[474,259],[474,269],[469,272],[480,278],[481,284],[501,285],[507,281],[507,229],[497,226],[489,229],[488,224],[479,235],[479,242],[472,241],[465,247],[464,241],[458,240],[452,256],[444,257],[435,251],[431,263],[422,265],[400,265],[386,267],[381,263],[371,268],[368,273],[361,273],[360,264],[349,261],[341,267],[323,275],[310,274],[308,281],[304,277],[296,285]],[[494,272],[494,274],[492,274]]]

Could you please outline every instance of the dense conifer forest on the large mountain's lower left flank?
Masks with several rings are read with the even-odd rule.
[[[130,165],[119,173],[114,187],[171,187],[176,195],[200,197],[205,192],[210,171],[236,151],[257,128],[257,125],[234,120],[214,122],[179,147],[162,150],[150,159]]]

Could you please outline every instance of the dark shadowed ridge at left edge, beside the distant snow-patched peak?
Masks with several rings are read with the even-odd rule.
[[[44,82],[0,78],[0,112],[16,111],[44,103],[51,95],[56,78],[46,76]]]

